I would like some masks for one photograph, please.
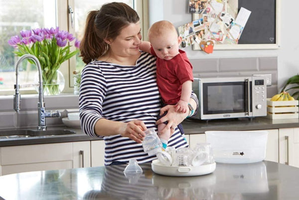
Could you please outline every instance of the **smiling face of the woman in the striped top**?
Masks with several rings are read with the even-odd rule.
[[[106,42],[110,45],[111,53],[121,57],[139,54],[139,45],[142,38],[140,31],[140,22],[131,23],[123,28],[114,40],[107,39]]]

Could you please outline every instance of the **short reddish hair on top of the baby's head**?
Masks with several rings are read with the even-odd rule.
[[[166,31],[173,31],[177,34],[176,32],[176,28],[174,27],[174,25],[167,20],[161,20],[161,21],[157,21],[154,22],[150,28],[149,28],[149,38],[151,36],[157,36],[160,34],[165,34]]]

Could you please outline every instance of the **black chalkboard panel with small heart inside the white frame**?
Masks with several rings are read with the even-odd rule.
[[[238,0],[238,8],[251,11],[238,44],[276,43],[276,0]]]

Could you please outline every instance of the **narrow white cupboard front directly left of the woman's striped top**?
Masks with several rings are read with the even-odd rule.
[[[104,166],[105,159],[105,141],[95,140],[90,142],[91,149],[91,167]]]

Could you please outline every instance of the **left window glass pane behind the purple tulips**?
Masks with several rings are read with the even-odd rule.
[[[19,35],[22,29],[55,27],[56,5],[55,1],[49,0],[0,0],[0,5],[0,94],[11,94],[17,58],[12,53],[14,48],[7,43],[8,39]],[[19,71],[20,82],[32,83],[36,71],[35,66],[23,62]]]

